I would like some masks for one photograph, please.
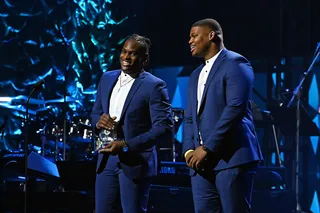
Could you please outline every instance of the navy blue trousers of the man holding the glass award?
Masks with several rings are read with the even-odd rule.
[[[96,175],[96,213],[145,213],[150,180],[132,180],[121,169],[118,156],[110,156],[105,168]]]

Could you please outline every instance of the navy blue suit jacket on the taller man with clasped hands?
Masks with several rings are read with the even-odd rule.
[[[262,160],[251,113],[254,73],[243,56],[223,49],[213,64],[197,113],[198,78],[190,76],[183,153],[203,143],[215,156],[215,170]]]

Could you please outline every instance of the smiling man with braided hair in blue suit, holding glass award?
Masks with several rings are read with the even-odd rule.
[[[96,213],[146,212],[150,177],[157,174],[156,144],[172,133],[171,106],[164,81],[144,71],[150,40],[133,34],[121,51],[121,70],[101,77],[92,109],[94,132],[117,132],[99,150]]]

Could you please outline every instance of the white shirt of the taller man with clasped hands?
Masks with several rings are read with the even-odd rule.
[[[219,54],[221,53],[222,49],[215,54],[212,58],[206,60],[206,64],[203,66],[200,75],[199,75],[199,79],[198,79],[198,91],[197,91],[197,112],[199,112],[200,109],[200,104],[201,104],[201,99],[202,99],[202,94],[204,91],[204,87],[206,85],[208,76],[210,74],[210,70],[214,64],[214,62],[216,61],[216,59],[218,58]]]

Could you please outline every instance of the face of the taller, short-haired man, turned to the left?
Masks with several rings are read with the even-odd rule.
[[[214,32],[206,26],[194,26],[190,30],[190,51],[193,57],[211,58]]]

